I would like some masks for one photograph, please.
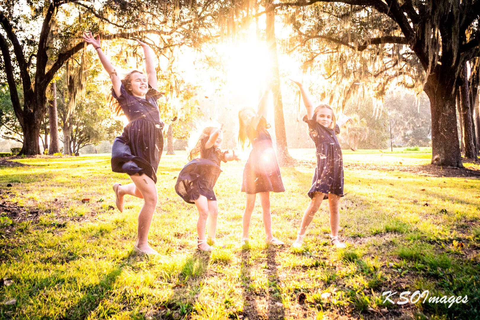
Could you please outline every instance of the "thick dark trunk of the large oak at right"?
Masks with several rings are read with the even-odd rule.
[[[454,86],[438,72],[428,76],[423,90],[432,113],[432,164],[463,168],[456,126]],[[444,81],[444,82],[442,82]]]

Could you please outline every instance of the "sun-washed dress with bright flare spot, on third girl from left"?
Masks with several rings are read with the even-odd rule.
[[[252,127],[247,128],[247,137],[252,143],[252,151],[243,169],[242,192],[255,194],[285,191],[272,137],[266,127],[266,120],[262,117],[256,130]]]

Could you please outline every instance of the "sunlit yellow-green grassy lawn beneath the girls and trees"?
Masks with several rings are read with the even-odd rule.
[[[244,162],[222,164],[217,230],[226,248],[211,254],[194,249],[198,213],[174,190],[185,153],[164,155],[158,168],[155,257],[132,253],[142,201],[126,197],[123,213],[112,208],[111,185],[130,180],[111,172],[108,155],[0,167],[0,204],[24,217],[12,221],[0,206],[0,319],[480,319],[479,178],[402,171],[430,163],[431,154],[400,149],[345,152],[346,164],[399,170],[346,166],[340,238],[348,246],[339,250],[329,246],[326,203],[305,246],[289,246],[309,201],[313,149],[290,150],[305,161],[282,168],[287,192],[271,194],[283,248],[265,245],[258,200],[250,246],[240,247]],[[396,303],[417,290],[468,301],[417,294],[416,303]],[[395,303],[386,291],[397,292]]]

